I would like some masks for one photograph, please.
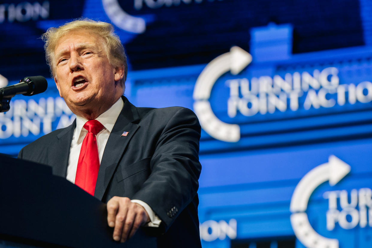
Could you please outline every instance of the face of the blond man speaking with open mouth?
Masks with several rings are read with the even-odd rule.
[[[119,81],[124,68],[110,65],[103,42],[96,34],[78,30],[62,36],[55,46],[54,81],[74,113],[76,109],[109,108],[123,93]]]

